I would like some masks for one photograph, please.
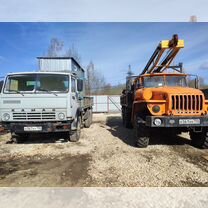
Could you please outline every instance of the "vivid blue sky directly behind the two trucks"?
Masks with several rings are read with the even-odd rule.
[[[185,40],[175,63],[208,80],[208,23],[0,23],[0,76],[37,70],[37,56],[51,38],[74,45],[82,66],[92,60],[111,84],[125,81],[128,65],[139,74],[160,40],[177,33]],[[208,81],[206,81],[208,83]]]

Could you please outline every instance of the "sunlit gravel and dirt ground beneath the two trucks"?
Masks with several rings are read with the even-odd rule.
[[[138,149],[119,114],[95,114],[78,143],[61,135],[9,141],[0,137],[0,186],[208,186],[208,150],[191,146],[188,134]]]

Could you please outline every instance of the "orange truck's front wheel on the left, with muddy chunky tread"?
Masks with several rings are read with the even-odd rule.
[[[145,148],[149,145],[150,140],[150,132],[149,129],[145,126],[145,124],[137,123],[137,119],[135,119],[135,136],[136,136],[136,146],[139,148]]]

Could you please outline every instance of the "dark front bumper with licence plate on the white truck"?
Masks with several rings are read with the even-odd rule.
[[[71,130],[71,122],[14,122],[5,123],[3,126],[15,133],[50,133]]]

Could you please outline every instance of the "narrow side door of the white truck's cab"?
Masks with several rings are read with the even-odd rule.
[[[76,121],[77,121],[77,110],[79,108],[79,100],[78,100],[78,93],[77,93],[77,84],[76,79],[71,77],[71,112],[72,117],[74,118],[74,122],[72,123],[72,129],[76,128]]]

